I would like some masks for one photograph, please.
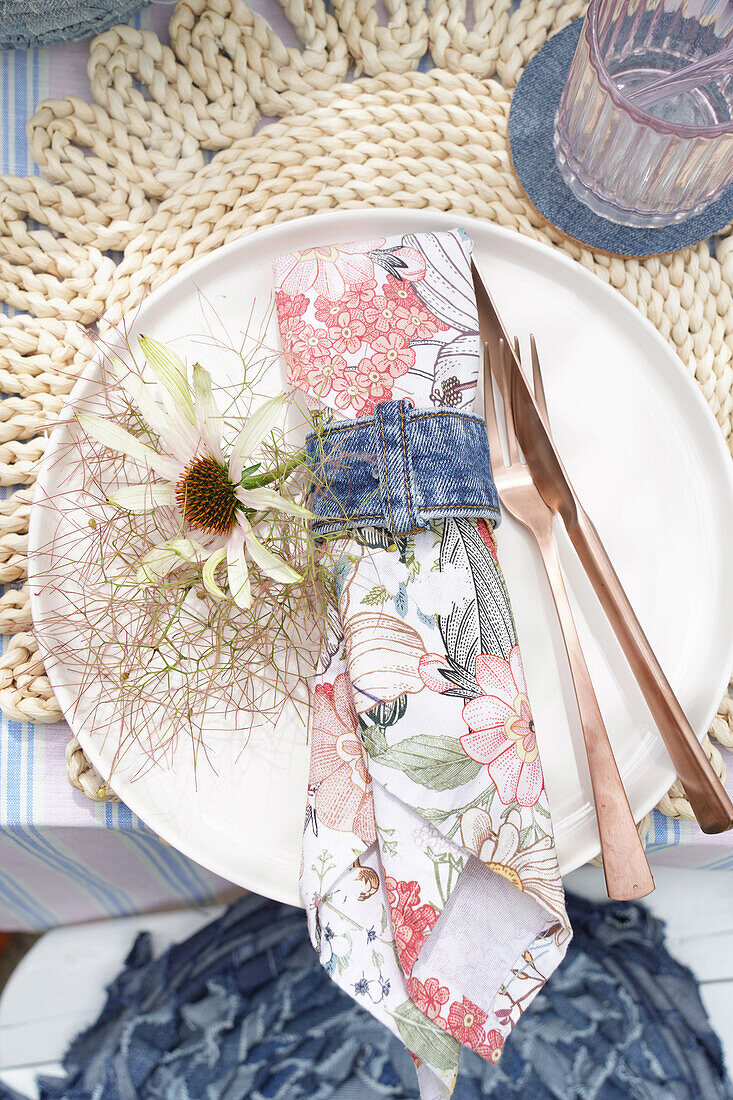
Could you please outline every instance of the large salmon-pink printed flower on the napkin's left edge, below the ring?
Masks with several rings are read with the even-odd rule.
[[[358,734],[351,684],[340,673],[315,690],[310,784],[316,815],[329,828],[376,839],[372,781]]]

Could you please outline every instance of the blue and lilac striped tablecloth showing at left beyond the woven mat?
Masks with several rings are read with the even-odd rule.
[[[158,4],[132,23],[163,30],[169,15],[171,6]],[[26,120],[50,96],[84,94],[79,59],[87,50],[0,53],[0,172],[37,174]],[[92,803],[73,791],[64,758],[68,736],[63,723],[0,717],[0,930],[226,902],[239,893],[164,845],[125,805]]]

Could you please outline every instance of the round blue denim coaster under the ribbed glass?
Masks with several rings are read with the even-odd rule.
[[[555,114],[570,69],[582,20],[549,38],[525,68],[508,119],[514,170],[539,212],[568,237],[622,256],[675,252],[707,240],[733,221],[733,185],[702,213],[677,226],[634,229],[593,213],[572,194],[555,163]]]

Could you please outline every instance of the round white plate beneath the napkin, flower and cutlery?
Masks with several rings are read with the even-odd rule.
[[[131,318],[140,332],[171,342],[215,370],[200,336],[212,318],[233,344],[271,309],[272,256],[329,241],[448,229],[456,219],[428,211],[354,210],[292,221],[187,265]],[[493,226],[463,219],[511,332],[534,331],[543,360],[553,430],[672,688],[700,736],[733,667],[733,465],[697,384],[661,337],[622,296],[557,252]],[[269,343],[277,346],[274,319]],[[252,331],[252,329],[250,329]],[[222,338],[219,330],[215,336]],[[215,360],[211,363],[211,359]],[[95,367],[96,370],[96,367]],[[276,371],[273,371],[276,373]],[[70,398],[94,385],[94,372]],[[280,380],[273,378],[273,386]],[[54,431],[39,475],[30,530],[33,615],[54,598],[43,582],[56,569],[47,548],[75,522],[67,429]],[[66,514],[51,498],[66,494]],[[44,502],[46,506],[44,506]],[[78,512],[78,507],[77,507]],[[560,553],[581,641],[632,807],[641,817],[667,790],[674,770],[635,682],[565,532]],[[505,518],[500,554],[512,593],[561,869],[599,850],[582,735],[562,641],[541,565],[526,534]],[[53,639],[44,637],[42,648]],[[87,648],[88,639],[79,646]],[[74,676],[50,661],[56,696],[86,752],[108,774],[117,741],[90,735],[77,708]],[[211,745],[212,768],[188,746],[135,778],[127,759],[114,788],[165,840],[262,894],[297,903],[308,750],[288,719],[277,737]]]

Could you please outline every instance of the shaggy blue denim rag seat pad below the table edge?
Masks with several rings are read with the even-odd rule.
[[[568,903],[565,964],[496,1066],[463,1053],[458,1100],[731,1100],[661,924],[635,904]],[[43,1100],[417,1100],[409,1057],[321,969],[303,913],[256,897],[158,959],[139,936],[65,1068]]]

